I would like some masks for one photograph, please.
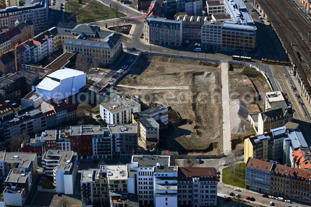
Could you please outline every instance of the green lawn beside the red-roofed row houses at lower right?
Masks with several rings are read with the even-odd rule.
[[[222,182],[228,185],[245,188],[245,163],[236,166],[235,176],[231,172],[230,167],[222,170]]]

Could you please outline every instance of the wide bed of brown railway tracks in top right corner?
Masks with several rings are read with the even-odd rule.
[[[307,39],[307,33],[309,28],[311,28],[309,22],[307,22],[286,0],[258,0],[258,4],[264,10],[264,13],[269,16],[271,24],[283,42],[288,55],[297,66],[304,87],[309,93],[311,93],[311,85],[308,81],[308,77],[296,54],[296,52],[299,52],[304,61],[310,65],[310,48],[309,45],[307,45],[306,40],[302,39],[302,33],[304,33],[303,36]],[[287,13],[289,14],[288,19],[286,18]],[[309,40],[311,43],[310,37]]]

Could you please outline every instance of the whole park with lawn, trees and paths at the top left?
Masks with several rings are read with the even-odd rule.
[[[98,1],[86,0],[82,1],[82,4],[79,4],[78,0],[69,0],[65,3],[65,19],[67,22],[75,21],[75,15],[77,15],[77,24],[126,16],[121,12],[121,7],[119,8],[117,16],[113,9],[110,9]]]

